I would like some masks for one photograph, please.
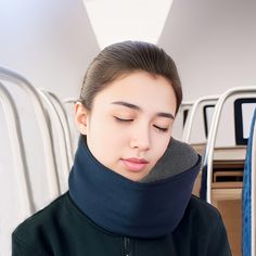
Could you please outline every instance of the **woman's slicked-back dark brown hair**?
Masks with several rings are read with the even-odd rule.
[[[103,49],[87,69],[80,102],[90,111],[99,91],[118,77],[137,71],[159,75],[169,80],[176,94],[177,113],[182,90],[175,62],[163,49],[142,41],[124,41]]]

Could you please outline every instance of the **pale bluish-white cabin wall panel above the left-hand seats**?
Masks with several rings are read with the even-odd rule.
[[[82,0],[1,0],[0,66],[62,99],[78,97],[99,52]]]

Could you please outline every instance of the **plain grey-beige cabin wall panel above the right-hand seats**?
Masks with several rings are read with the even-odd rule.
[[[177,63],[184,100],[256,85],[256,1],[174,0],[158,44]]]

